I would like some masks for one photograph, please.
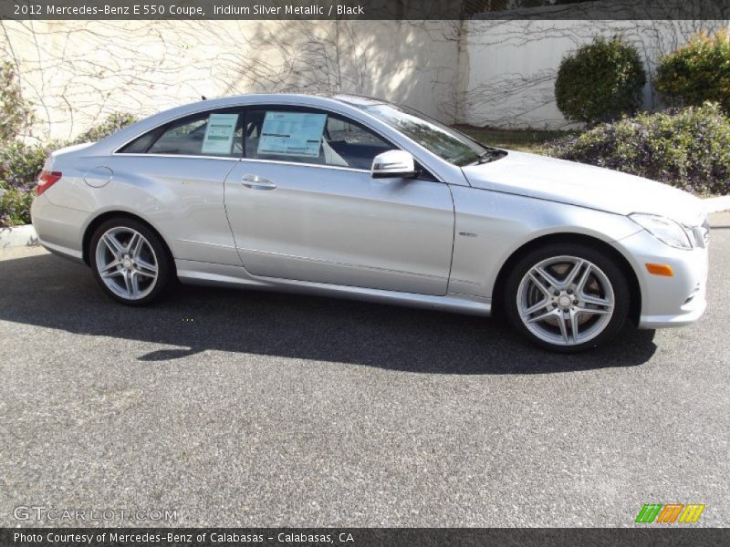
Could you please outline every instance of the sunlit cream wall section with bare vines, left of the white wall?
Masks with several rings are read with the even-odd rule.
[[[31,138],[68,139],[115,111],[140,116],[248,92],[344,91],[454,120],[458,22],[0,22],[36,108]]]

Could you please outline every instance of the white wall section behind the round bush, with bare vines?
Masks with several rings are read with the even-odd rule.
[[[636,46],[651,80],[662,55],[702,29],[726,21],[467,21],[460,55],[457,120],[476,126],[568,127],[554,98],[562,57],[594,36],[622,36]],[[659,106],[651,84],[644,107]]]

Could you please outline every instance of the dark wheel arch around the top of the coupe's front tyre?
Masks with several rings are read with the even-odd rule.
[[[514,269],[517,261],[531,251],[550,243],[583,243],[591,246],[594,249],[598,249],[603,253],[606,253],[615,263],[619,266],[621,272],[626,275],[626,280],[629,283],[629,318],[635,325],[639,325],[639,317],[641,315],[641,286],[639,279],[636,276],[631,263],[626,259],[618,249],[606,243],[605,241],[582,233],[549,233],[542,235],[522,246],[518,247],[516,251],[509,255],[505,263],[499,269],[499,273],[495,279],[495,285],[492,289],[492,309],[494,315],[504,314],[504,294],[505,285],[509,273]]]

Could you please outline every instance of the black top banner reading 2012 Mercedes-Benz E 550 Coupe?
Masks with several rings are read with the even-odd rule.
[[[15,20],[709,20],[730,0],[2,0]]]

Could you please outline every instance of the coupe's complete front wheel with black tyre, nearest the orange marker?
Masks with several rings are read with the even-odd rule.
[[[538,346],[564,353],[600,346],[626,320],[629,284],[606,253],[554,243],[523,256],[506,283],[506,315]]]

